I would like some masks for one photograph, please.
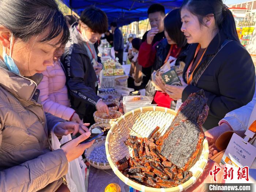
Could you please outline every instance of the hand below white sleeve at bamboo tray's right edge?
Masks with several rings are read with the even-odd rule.
[[[204,135],[206,136],[206,139],[209,143],[209,145],[211,144],[215,144],[217,138],[224,132],[226,131],[232,131],[233,129],[230,127],[229,124],[223,122],[221,125],[214,127],[212,129],[209,129],[208,131],[206,131],[204,133]]]

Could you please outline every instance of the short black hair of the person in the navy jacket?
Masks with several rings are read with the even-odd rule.
[[[93,33],[105,33],[108,31],[108,17],[104,11],[97,7],[89,7],[83,10],[80,20],[87,25]]]

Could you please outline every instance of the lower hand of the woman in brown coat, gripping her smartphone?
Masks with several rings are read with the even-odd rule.
[[[68,162],[71,162],[74,159],[80,157],[80,155],[83,154],[84,150],[89,148],[93,144],[94,140],[88,143],[79,144],[89,138],[90,135],[91,132],[83,133],[78,138],[71,140],[70,142],[64,144],[64,146],[61,147],[68,159]]]

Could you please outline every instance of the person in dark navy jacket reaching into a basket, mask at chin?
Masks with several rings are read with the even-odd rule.
[[[106,14],[95,7],[87,8],[79,22],[71,26],[70,39],[61,58],[67,74],[71,107],[84,122],[91,124],[96,109],[108,113],[108,106],[96,94],[97,75],[103,66],[94,47],[107,30]]]

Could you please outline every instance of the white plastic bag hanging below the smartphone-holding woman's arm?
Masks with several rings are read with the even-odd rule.
[[[52,132],[52,148],[59,149],[60,145],[71,140],[71,135],[63,136],[59,142],[57,136]],[[85,169],[86,165],[83,162],[82,156],[68,163],[68,173],[66,180],[68,188],[71,192],[85,192]]]

